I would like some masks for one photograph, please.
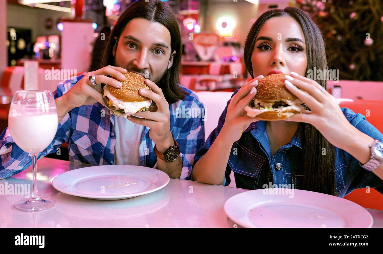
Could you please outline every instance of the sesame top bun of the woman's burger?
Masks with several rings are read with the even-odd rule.
[[[257,94],[255,99],[271,103],[281,100],[295,100],[296,96],[285,87],[286,73],[268,75],[258,80]]]

